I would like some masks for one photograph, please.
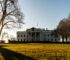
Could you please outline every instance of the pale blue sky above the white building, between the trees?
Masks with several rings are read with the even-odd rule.
[[[70,0],[18,0],[18,7],[24,14],[22,31],[31,27],[53,30],[68,17]],[[16,30],[10,30],[10,34],[15,35]]]

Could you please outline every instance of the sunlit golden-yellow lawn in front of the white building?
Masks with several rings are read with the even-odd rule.
[[[8,49],[36,60],[70,60],[70,44],[23,43],[0,46],[2,50]]]

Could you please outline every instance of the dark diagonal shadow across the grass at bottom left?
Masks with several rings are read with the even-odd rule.
[[[28,56],[3,48],[3,46],[0,46],[0,53],[5,60],[35,60]]]

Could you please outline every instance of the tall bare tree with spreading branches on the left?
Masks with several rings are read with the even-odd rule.
[[[23,24],[23,14],[17,0],[0,0],[0,35],[4,28],[18,27]]]

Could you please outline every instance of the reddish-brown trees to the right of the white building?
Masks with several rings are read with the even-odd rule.
[[[66,40],[66,42],[68,42],[68,40],[70,40],[70,15],[67,18],[63,18],[57,28],[53,31],[53,33],[55,35],[59,35],[62,38],[62,42],[64,42],[64,40]]]

